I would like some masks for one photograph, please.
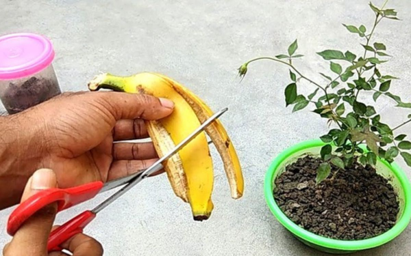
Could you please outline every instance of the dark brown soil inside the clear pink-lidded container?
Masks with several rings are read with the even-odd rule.
[[[60,94],[53,80],[31,77],[22,85],[9,83],[1,102],[10,114],[21,112]]]

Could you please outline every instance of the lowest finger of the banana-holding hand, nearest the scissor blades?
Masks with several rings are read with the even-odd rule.
[[[134,173],[139,173],[144,171],[158,159],[148,159],[148,160],[116,160],[112,163],[110,171],[108,173],[108,181],[116,180],[120,177],[125,177],[132,175]],[[156,173],[153,173],[151,176],[164,173],[164,170],[160,170]]]

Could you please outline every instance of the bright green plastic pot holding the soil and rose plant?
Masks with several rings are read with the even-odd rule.
[[[299,143],[279,154],[279,156],[277,156],[271,163],[264,180],[264,195],[266,203],[269,205],[271,212],[274,214],[275,218],[277,218],[279,223],[304,244],[325,253],[343,254],[362,251],[386,244],[399,236],[399,234],[406,229],[411,219],[411,186],[406,174],[400,167],[398,167],[398,165],[395,163],[390,165],[382,159],[377,159],[375,169],[379,175],[386,177],[388,182],[393,185],[400,207],[397,223],[385,233],[364,240],[337,240],[325,238],[299,227],[299,225],[293,223],[286,214],[282,212],[273,197],[275,178],[285,171],[286,166],[295,162],[298,158],[306,155],[320,157],[319,152],[323,145],[325,144],[321,140]],[[366,149],[364,148],[364,150]]]

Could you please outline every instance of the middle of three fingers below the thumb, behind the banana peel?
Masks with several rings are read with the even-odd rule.
[[[116,143],[113,145],[114,160],[146,160],[158,158],[153,143]]]

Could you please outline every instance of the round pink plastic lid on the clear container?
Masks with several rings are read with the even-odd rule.
[[[53,45],[42,35],[14,33],[0,37],[0,80],[35,74],[53,59]]]

